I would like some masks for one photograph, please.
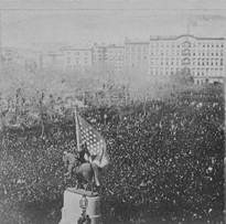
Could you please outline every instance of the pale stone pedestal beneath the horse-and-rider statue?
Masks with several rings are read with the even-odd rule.
[[[73,188],[68,188],[64,191],[64,206],[62,209],[62,220],[60,224],[77,224],[82,215],[79,201],[84,194],[88,200],[86,214],[89,215],[92,224],[101,224],[100,196],[98,196],[97,193],[92,194],[90,191],[83,189],[75,190]]]

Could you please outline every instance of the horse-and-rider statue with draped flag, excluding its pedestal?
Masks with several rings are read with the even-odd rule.
[[[64,151],[63,161],[67,169],[65,177],[72,178],[76,174],[77,184],[86,182],[85,190],[94,185],[99,189],[100,180],[99,174],[103,168],[109,163],[109,157],[106,150],[106,141],[104,137],[92,127],[84,118],[77,115],[75,110],[75,125],[76,125],[76,141],[77,147],[74,152]]]

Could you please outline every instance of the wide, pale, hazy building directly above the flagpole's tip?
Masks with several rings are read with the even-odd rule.
[[[92,66],[92,49],[62,49],[63,66],[65,70],[84,70]]]

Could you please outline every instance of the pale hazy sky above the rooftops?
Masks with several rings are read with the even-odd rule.
[[[174,3],[169,4],[169,1]],[[143,4],[138,0],[110,2],[114,4],[86,4],[87,10],[84,4],[75,7],[76,10],[49,10],[50,7],[44,11],[23,10],[22,7],[4,10],[1,14],[2,46],[122,44],[126,36],[148,41],[150,35],[187,32],[197,36],[226,36],[226,7],[222,0],[214,4],[209,0],[150,0]]]

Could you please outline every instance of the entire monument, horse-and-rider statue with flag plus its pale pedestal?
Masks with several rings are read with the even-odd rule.
[[[64,202],[62,209],[62,220],[60,224],[101,224],[100,195],[93,191],[93,183],[99,186],[99,170],[108,164],[106,142],[103,136],[95,130],[85,119],[77,115],[75,110],[77,152],[83,154],[85,161],[82,164],[68,156],[68,174],[72,177],[72,167],[76,175],[92,185],[92,191],[77,188],[67,188],[64,191]],[[82,148],[80,143],[85,143]],[[67,159],[64,159],[67,162]]]

